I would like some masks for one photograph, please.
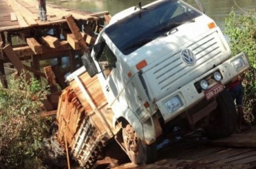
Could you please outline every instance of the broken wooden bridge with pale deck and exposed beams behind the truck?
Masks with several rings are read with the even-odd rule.
[[[44,106],[51,111],[57,109],[56,98],[67,86],[64,75],[82,66],[80,56],[94,44],[111,15],[107,11],[93,13],[50,4],[46,4],[46,10],[48,20],[42,23],[37,1],[0,0],[0,77],[6,88],[7,70],[19,74],[26,69],[33,77],[46,79],[52,95],[48,95]],[[63,57],[68,57],[70,63],[65,69]],[[48,59],[57,59],[57,64],[42,69],[40,61]]]

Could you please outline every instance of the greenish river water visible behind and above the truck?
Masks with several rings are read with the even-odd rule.
[[[57,3],[57,0],[53,0]],[[109,11],[113,16],[114,14],[125,10],[131,6],[137,6],[138,1],[142,1],[143,6],[151,3],[154,0],[102,0],[102,1],[88,1],[88,0],[68,0],[58,5],[65,8],[75,8],[79,10],[89,10],[92,12]],[[214,19],[217,25],[224,29],[225,18],[230,14],[231,8],[235,9],[237,14],[241,12],[248,12],[248,10],[255,8],[255,0],[201,0],[205,8],[206,14]],[[188,0],[187,3],[197,8],[194,0]]]

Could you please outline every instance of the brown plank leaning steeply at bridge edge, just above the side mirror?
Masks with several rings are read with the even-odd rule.
[[[84,41],[84,38],[82,37],[80,29],[77,27],[77,24],[73,19],[73,16],[71,14],[68,15],[68,17],[66,17],[66,21],[68,23],[69,28],[71,29],[71,32],[75,35],[75,39],[77,39],[78,43],[80,44],[82,48],[82,53],[84,53],[87,50],[87,45]]]

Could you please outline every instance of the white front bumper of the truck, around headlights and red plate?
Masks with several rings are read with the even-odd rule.
[[[236,70],[234,66],[232,66],[232,61],[239,57],[244,60],[244,67],[239,70]],[[201,75],[201,77],[194,79],[194,81],[191,81],[190,83],[183,86],[182,88],[179,88],[178,90],[172,92],[170,95],[167,95],[167,97],[164,97],[163,99],[156,101],[156,105],[158,106],[161,114],[163,115],[163,119],[165,120],[165,122],[170,121],[171,119],[174,119],[174,117],[180,115],[185,110],[192,108],[201,100],[205,99],[204,92],[198,92],[198,90],[196,90],[196,87],[194,85],[196,82],[201,81],[201,79],[207,77],[209,74],[212,74],[213,72],[218,70],[219,72],[221,72],[221,75],[223,77],[221,79],[221,83],[225,86],[232,79],[237,77],[239,74],[248,70],[248,68],[250,68],[248,57],[244,52],[241,52],[237,54],[235,57],[228,59],[228,61],[225,61],[221,65]],[[217,82],[212,83],[209,86],[209,88],[214,86],[216,83]],[[178,98],[176,99],[176,103],[179,105],[179,108],[170,112],[170,110],[169,111],[167,110],[167,106],[165,105],[165,103],[174,97]]]

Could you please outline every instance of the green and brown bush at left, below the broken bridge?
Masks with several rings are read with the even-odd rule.
[[[0,86],[0,168],[43,168],[43,139],[48,127],[39,117],[46,90],[39,81],[26,81],[26,72]]]

